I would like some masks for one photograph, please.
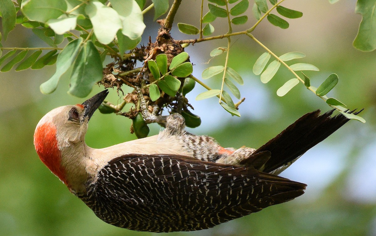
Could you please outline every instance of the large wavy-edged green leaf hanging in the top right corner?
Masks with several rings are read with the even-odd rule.
[[[373,51],[376,49],[376,1],[358,0],[355,12],[362,15],[359,31],[353,42],[353,46],[361,51]]]

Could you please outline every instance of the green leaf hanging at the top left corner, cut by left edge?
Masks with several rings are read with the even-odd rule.
[[[2,14],[3,37],[4,40],[6,40],[8,33],[11,32],[16,25],[16,9],[12,0],[1,0],[0,12]]]

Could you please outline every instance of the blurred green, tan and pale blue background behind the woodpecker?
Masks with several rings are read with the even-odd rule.
[[[175,24],[198,24],[199,1],[183,1]],[[340,82],[329,96],[349,108],[363,108],[362,124],[350,121],[327,140],[309,150],[281,175],[308,184],[306,193],[296,200],[268,207],[261,212],[236,219],[212,229],[171,233],[171,235],[375,235],[376,234],[376,53],[362,53],[352,47],[360,15],[354,13],[355,1],[342,0],[330,5],[327,0],[285,1],[284,6],[302,11],[303,17],[289,20],[282,30],[267,21],[253,35],[277,55],[301,51],[307,55],[299,62],[312,63],[320,72],[307,72],[311,84],[319,84],[331,73]],[[252,14],[249,12],[249,14]],[[146,15],[147,37],[156,36],[158,24],[153,12]],[[253,24],[251,20],[247,28]],[[215,22],[215,35],[226,29]],[[243,30],[244,28],[239,28]],[[236,29],[235,29],[236,30]],[[186,36],[173,29],[176,39]],[[186,48],[200,77],[209,52],[226,46],[225,39],[203,42]],[[12,31],[4,47],[36,47],[38,38],[21,27]],[[188,96],[202,117],[202,125],[190,132],[215,137],[224,147],[259,147],[303,114],[329,110],[303,85],[296,86],[280,98],[276,90],[292,75],[280,70],[268,84],[252,74],[255,60],[264,51],[249,38],[232,39],[230,65],[240,72],[246,101],[240,106],[241,117],[231,117],[215,101],[194,101],[205,89],[196,85]],[[223,65],[218,57],[209,65]],[[39,161],[33,146],[33,133],[39,119],[55,107],[82,103],[66,93],[68,81],[62,78],[56,92],[42,95],[39,85],[54,72],[54,66],[38,71],[0,74],[0,235],[152,235],[114,227],[98,219],[74,197]],[[210,83],[209,83],[210,84]],[[210,84],[215,86],[215,83]],[[94,87],[91,95],[103,88]],[[115,90],[108,100],[121,102]],[[86,143],[101,148],[135,139],[129,134],[130,121],[125,117],[97,112],[90,121]],[[157,134],[153,125],[150,135]]]

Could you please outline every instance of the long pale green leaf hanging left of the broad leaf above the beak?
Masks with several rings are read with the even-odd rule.
[[[82,38],[75,39],[69,42],[67,46],[65,46],[65,48],[59,53],[56,62],[56,72],[54,75],[52,75],[52,77],[49,80],[41,84],[40,90],[42,93],[49,94],[56,90],[56,88],[58,87],[59,79],[73,64],[74,59],[76,59],[81,43]]]

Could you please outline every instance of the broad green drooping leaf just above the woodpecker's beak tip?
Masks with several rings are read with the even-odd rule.
[[[94,84],[102,78],[103,68],[99,52],[94,44],[88,41],[83,44],[74,61],[68,93],[84,98],[89,95]]]

